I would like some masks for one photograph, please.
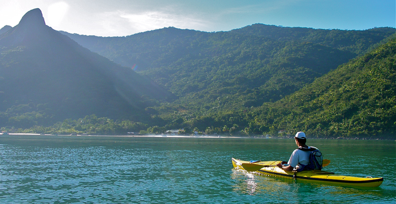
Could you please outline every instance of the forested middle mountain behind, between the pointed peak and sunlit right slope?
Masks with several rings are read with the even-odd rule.
[[[113,38],[63,33],[149,76],[178,95],[177,104],[202,115],[279,100],[367,52],[394,31],[254,24],[228,32],[169,27]]]

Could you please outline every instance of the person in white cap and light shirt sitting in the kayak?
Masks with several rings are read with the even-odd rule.
[[[304,132],[297,132],[294,136],[295,144],[298,147],[302,148],[308,148],[310,149],[311,147],[307,146],[305,143],[307,142],[307,138]],[[299,168],[298,166],[299,163],[303,165],[309,164],[309,155],[310,151],[303,151],[296,149],[291,153],[290,159],[288,162],[282,161],[277,164],[279,168],[282,168],[284,171],[293,171],[294,168]],[[286,164],[286,165],[284,165]]]

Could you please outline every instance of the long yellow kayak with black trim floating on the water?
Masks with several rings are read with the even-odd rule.
[[[306,180],[314,181],[329,185],[342,185],[342,186],[354,186],[354,187],[378,187],[382,184],[383,178],[358,178],[337,175],[332,172],[325,172],[320,170],[313,171],[302,171],[302,172],[287,172],[276,166],[281,161],[259,161],[250,163],[249,161],[242,161],[239,159],[233,160],[233,166],[236,169],[247,170],[249,172],[265,175],[274,176],[286,179]],[[245,166],[245,168],[244,168]]]

